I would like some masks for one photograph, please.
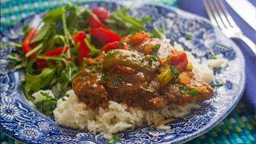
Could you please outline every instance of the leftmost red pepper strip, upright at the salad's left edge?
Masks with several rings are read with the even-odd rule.
[[[29,32],[29,34],[27,34],[26,38],[23,40],[22,42],[22,52],[24,54],[30,52],[30,50],[32,50],[32,47],[30,46],[30,42],[31,40],[35,37],[35,35],[38,34],[38,30],[32,28]],[[35,54],[31,54],[29,58],[34,58]]]

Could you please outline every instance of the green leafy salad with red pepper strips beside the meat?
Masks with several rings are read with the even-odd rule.
[[[104,7],[91,10],[83,6],[66,5],[44,14],[37,27],[25,26],[21,43],[2,45],[20,48],[22,54],[9,55],[13,69],[24,69],[22,89],[26,98],[43,114],[52,115],[59,98],[71,89],[72,79],[85,62],[102,52],[102,46],[119,42],[121,38],[146,30],[151,18],[134,18],[128,8],[110,13]],[[164,38],[164,30],[154,29],[151,37]],[[159,46],[158,46],[159,47]],[[155,47],[155,49],[158,49]],[[58,88],[54,97],[39,90]],[[32,95],[40,92],[39,100]]]

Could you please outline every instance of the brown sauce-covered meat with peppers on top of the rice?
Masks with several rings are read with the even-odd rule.
[[[183,105],[213,97],[211,86],[188,68],[186,53],[144,32],[122,42],[132,50],[100,54],[73,80],[74,93],[91,108],[106,107],[108,101],[114,101],[143,110],[161,110],[170,103]]]

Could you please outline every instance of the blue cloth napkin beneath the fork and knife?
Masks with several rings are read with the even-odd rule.
[[[250,2],[256,6],[256,1],[250,0]],[[241,28],[243,34],[256,43],[256,32],[244,22],[234,10],[231,10],[226,2],[225,5],[232,18],[234,18],[234,21]],[[202,0],[193,0],[193,2],[188,0],[178,0],[178,6],[182,10],[208,18]],[[254,114],[256,114],[256,56],[241,40],[234,39],[234,42],[240,47],[242,54],[246,58],[246,90],[242,96],[242,100],[245,101],[251,110],[253,110]]]

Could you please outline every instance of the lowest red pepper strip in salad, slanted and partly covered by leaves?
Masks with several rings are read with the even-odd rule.
[[[45,53],[43,53],[42,55],[45,55],[45,56],[58,56],[60,54],[66,54],[66,52],[69,50],[69,47],[58,47],[54,50],[50,50],[50,51],[46,51]],[[36,63],[37,63],[37,66],[38,66],[38,70],[39,71],[42,71],[42,69],[44,69],[45,67],[47,67],[47,62],[46,60],[44,59],[37,59],[36,60]],[[54,62],[53,62],[54,64]]]

